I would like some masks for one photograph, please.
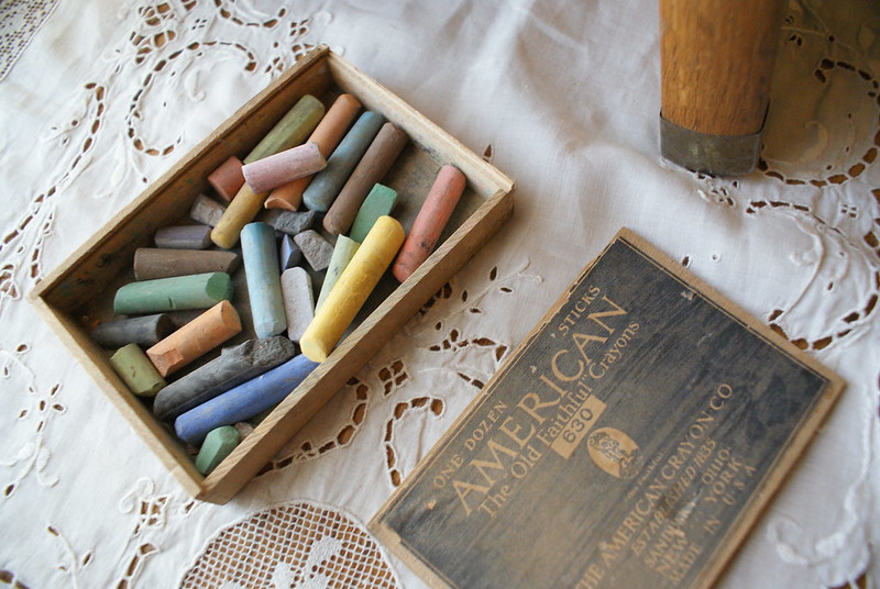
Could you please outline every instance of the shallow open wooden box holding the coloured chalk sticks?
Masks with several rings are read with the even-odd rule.
[[[191,223],[194,200],[210,195],[208,175],[232,155],[242,157],[304,95],[326,108],[341,92],[358,98],[409,136],[409,143],[382,182],[398,192],[393,216],[409,230],[443,164],[461,169],[468,186],[433,254],[405,282],[382,278],[353,330],[330,356],[286,397],[207,477],[173,430],[153,416],[151,400],[135,397],[109,364],[90,330],[112,316],[116,289],[133,281],[139,247],[150,247],[156,230]],[[403,324],[435,294],[504,224],[513,212],[513,181],[400,98],[327,47],[297,62],[255,96],[183,160],[36,285],[30,300],[81,362],[110,401],[195,498],[224,503],[365,365]],[[233,303],[243,304],[240,287]],[[241,312],[241,309],[240,309]],[[248,333],[250,332],[250,333]],[[223,344],[253,337],[251,327]],[[216,357],[220,348],[209,357]],[[208,358],[209,359],[209,358]],[[183,375],[180,375],[183,376]]]

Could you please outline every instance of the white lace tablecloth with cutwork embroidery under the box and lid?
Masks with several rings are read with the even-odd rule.
[[[651,2],[0,4],[0,585],[422,587],[365,522],[626,225],[848,382],[721,587],[877,586],[880,9],[826,4],[787,5],[739,179],[659,156]],[[514,177],[516,212],[234,501],[200,503],[24,297],[321,43]]]

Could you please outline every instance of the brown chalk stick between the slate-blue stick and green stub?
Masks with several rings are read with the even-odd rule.
[[[331,235],[349,232],[364,199],[392,167],[407,141],[406,133],[394,124],[382,125],[376,138],[370,144],[323,218],[323,227]]]

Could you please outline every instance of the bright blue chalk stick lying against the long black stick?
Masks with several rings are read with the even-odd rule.
[[[199,445],[211,430],[245,421],[278,404],[317,366],[317,363],[301,354],[295,356],[280,366],[183,413],[174,421],[174,430],[180,440]]]

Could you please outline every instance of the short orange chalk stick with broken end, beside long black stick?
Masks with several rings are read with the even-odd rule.
[[[168,376],[239,332],[241,320],[235,308],[220,301],[147,349],[146,355],[158,374]]]

